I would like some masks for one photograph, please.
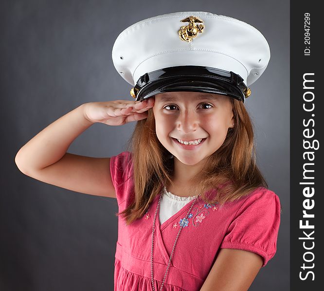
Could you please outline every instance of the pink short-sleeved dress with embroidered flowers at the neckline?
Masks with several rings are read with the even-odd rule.
[[[133,199],[131,153],[122,152],[110,159],[110,173],[116,190],[119,211]],[[151,240],[157,195],[146,214],[126,226],[118,218],[118,241],[115,254],[114,291],[148,291],[151,283]],[[160,290],[175,238],[191,206],[160,225],[159,211],[154,234],[154,280]],[[183,226],[163,284],[165,291],[199,291],[207,278],[220,248],[254,252],[263,265],[276,252],[280,224],[280,201],[272,191],[260,187],[251,194],[222,208],[205,204],[199,197]]]

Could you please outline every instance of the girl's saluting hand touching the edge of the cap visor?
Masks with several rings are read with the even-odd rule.
[[[143,102],[128,100],[89,102],[84,104],[84,116],[93,123],[123,125],[147,118],[147,110],[154,106],[154,101],[154,97],[149,97]]]

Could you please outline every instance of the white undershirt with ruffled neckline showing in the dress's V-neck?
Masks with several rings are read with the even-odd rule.
[[[159,207],[160,224],[162,225],[163,222],[176,214],[182,207],[193,199],[195,199],[195,196],[180,197],[171,192],[167,192],[164,187]]]

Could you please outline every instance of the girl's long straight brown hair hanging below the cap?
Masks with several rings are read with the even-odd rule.
[[[250,194],[258,187],[268,188],[256,166],[249,113],[242,101],[230,100],[235,127],[228,129],[222,146],[207,158],[203,170],[193,180],[201,199],[209,204],[218,203],[220,207],[227,201]],[[128,178],[134,179],[134,201],[117,216],[122,215],[129,225],[144,216],[162,185],[173,184],[173,159],[156,135],[152,108],[148,110],[146,119],[137,121],[127,148],[132,153],[132,177]]]

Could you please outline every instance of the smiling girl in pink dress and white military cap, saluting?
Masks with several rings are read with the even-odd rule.
[[[179,12],[144,19],[112,49],[135,102],[85,103],[17,153],[38,180],[117,199],[114,290],[246,291],[274,256],[279,198],[255,164],[244,102],[270,59],[237,19]],[[67,153],[93,123],[137,121],[127,151]]]

